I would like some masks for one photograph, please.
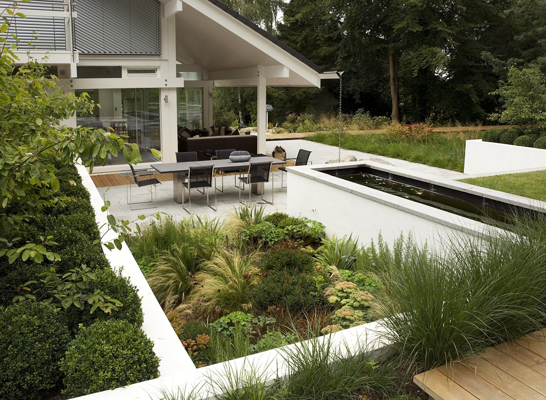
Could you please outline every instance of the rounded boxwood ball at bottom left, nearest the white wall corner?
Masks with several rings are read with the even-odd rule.
[[[83,396],[159,376],[153,342],[124,320],[81,328],[61,360],[63,393]]]

